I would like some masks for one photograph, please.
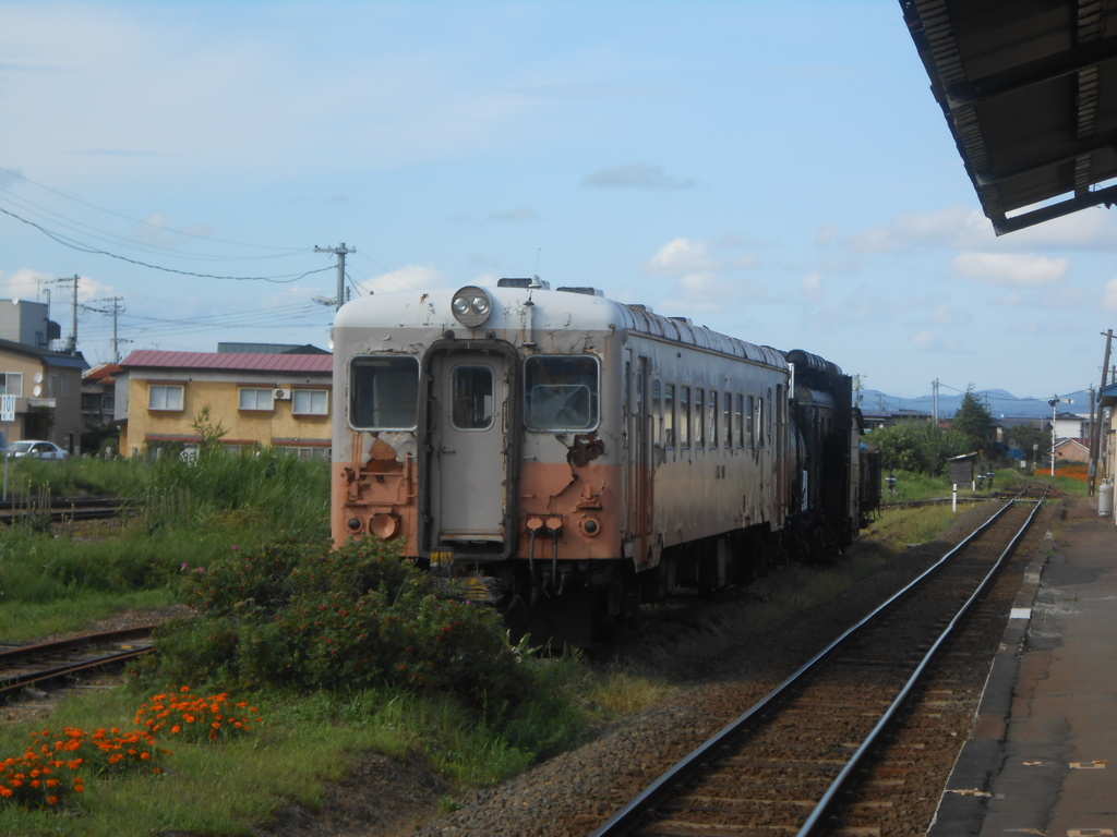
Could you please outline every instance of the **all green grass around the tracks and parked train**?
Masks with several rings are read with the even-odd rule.
[[[50,491],[65,477],[65,484],[89,493],[126,493],[140,508],[115,530],[92,537],[65,527],[0,530],[0,637],[7,641],[79,629],[117,610],[174,604],[181,565],[209,565],[232,545],[250,549],[278,538],[313,541],[325,533],[324,463],[229,456],[191,468],[171,458],[155,465],[95,462],[89,473],[83,472],[84,463],[46,463],[54,469],[42,471],[55,480]],[[116,489],[107,490],[109,484]],[[943,496],[941,484],[915,478],[904,477],[899,484],[910,497]],[[27,496],[41,490],[29,482]],[[888,542],[917,542],[948,525],[941,511],[884,512],[878,529],[888,532]],[[945,511],[948,516],[948,507]],[[754,586],[754,602],[733,618],[745,629],[766,629],[856,584],[887,559],[880,541],[870,540],[836,567],[783,567]],[[369,753],[426,761],[448,781],[443,806],[454,807],[468,790],[515,776],[596,727],[672,693],[655,677],[594,672],[576,656],[527,656],[524,665],[542,686],[541,696],[517,706],[500,729],[478,720],[476,708],[435,695],[344,687],[233,695],[251,700],[265,719],[244,739],[169,744],[174,753],[163,762],[164,773],[89,777],[86,792],[68,810],[22,811],[0,804],[0,834],[248,835],[250,824],[267,819],[285,801],[321,807],[326,788]],[[29,733],[45,728],[127,730],[149,696],[150,690],[130,689],[75,693],[49,719],[0,728],[0,759],[22,752]]]

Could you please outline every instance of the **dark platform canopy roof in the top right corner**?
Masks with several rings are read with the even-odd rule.
[[[1117,203],[1117,0],[899,2],[996,234]]]

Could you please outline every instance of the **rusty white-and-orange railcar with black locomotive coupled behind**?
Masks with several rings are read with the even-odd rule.
[[[879,501],[836,365],[593,289],[366,297],[333,345],[335,542],[398,540],[534,636],[840,549]]]

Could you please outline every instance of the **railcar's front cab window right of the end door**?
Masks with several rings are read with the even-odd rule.
[[[524,415],[529,430],[592,430],[598,425],[598,362],[586,356],[536,355],[524,363]]]

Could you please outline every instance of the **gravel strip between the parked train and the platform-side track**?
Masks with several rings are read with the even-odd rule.
[[[438,802],[447,789],[420,766],[363,766],[359,772],[375,776],[375,783],[349,781],[309,821],[284,815],[258,834],[583,837],[646,787],[649,777],[741,714],[989,513],[983,507],[960,516],[942,540],[895,556],[834,598],[762,631],[741,626],[736,617],[742,596],[642,618],[626,632],[615,656],[633,671],[678,683],[672,699],[612,724],[585,745],[512,781],[476,792],[452,814],[439,816]],[[378,816],[353,817],[354,808],[375,810]]]

